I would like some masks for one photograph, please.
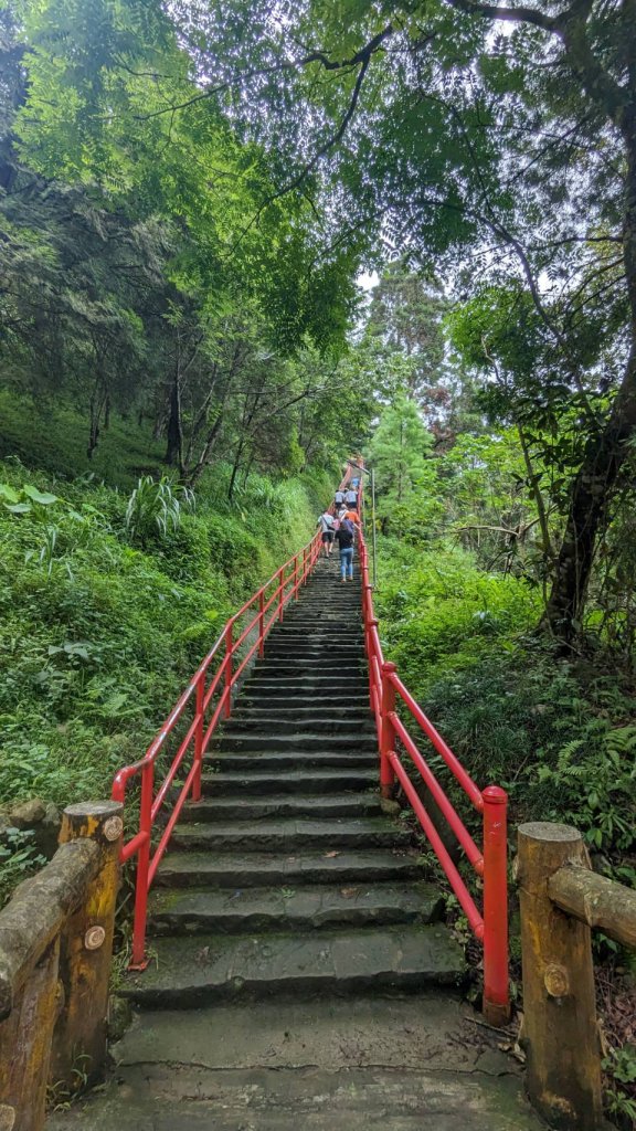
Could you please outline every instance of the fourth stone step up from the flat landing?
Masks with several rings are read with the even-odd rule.
[[[172,834],[178,848],[209,852],[285,852],[392,848],[411,843],[411,831],[385,817],[263,817],[246,821],[181,823]]]

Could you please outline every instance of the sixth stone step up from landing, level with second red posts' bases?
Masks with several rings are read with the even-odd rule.
[[[237,759],[233,761],[235,763]],[[225,767],[225,759],[220,765]],[[260,759],[258,765],[260,765]],[[276,765],[270,769],[259,770],[253,768],[253,763],[246,767],[246,760],[240,756],[238,769],[222,769],[216,774],[204,774],[201,777],[201,789],[206,796],[231,795],[233,801],[235,801],[237,795],[243,794],[293,796],[296,793],[302,795],[311,793],[338,796],[343,789],[372,789],[377,788],[377,762],[369,767],[367,759],[364,759],[363,766],[349,767],[345,765],[334,768],[306,765],[302,769],[298,769],[298,762],[294,760],[291,767],[285,763],[283,768]]]

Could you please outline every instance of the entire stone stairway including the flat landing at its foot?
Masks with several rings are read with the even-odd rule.
[[[383,814],[360,581],[321,561],[206,762],[103,1091],[51,1131],[538,1131]],[[442,987],[442,988],[440,988]]]

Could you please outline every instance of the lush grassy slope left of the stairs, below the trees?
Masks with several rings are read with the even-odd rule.
[[[156,448],[113,421],[92,468],[109,483],[71,478],[86,470],[85,421],[61,407],[44,426],[19,408],[0,398],[5,452],[10,438],[24,460],[1,463],[0,482],[60,501],[0,506],[0,800],[68,803],[108,794],[143,753],[227,615],[307,542],[330,484],[256,476],[229,509],[215,468],[177,535],[135,545],[126,501]]]

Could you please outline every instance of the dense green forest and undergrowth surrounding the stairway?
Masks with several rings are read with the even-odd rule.
[[[634,883],[634,0],[5,6],[2,802],[106,791],[358,451],[387,654]]]

